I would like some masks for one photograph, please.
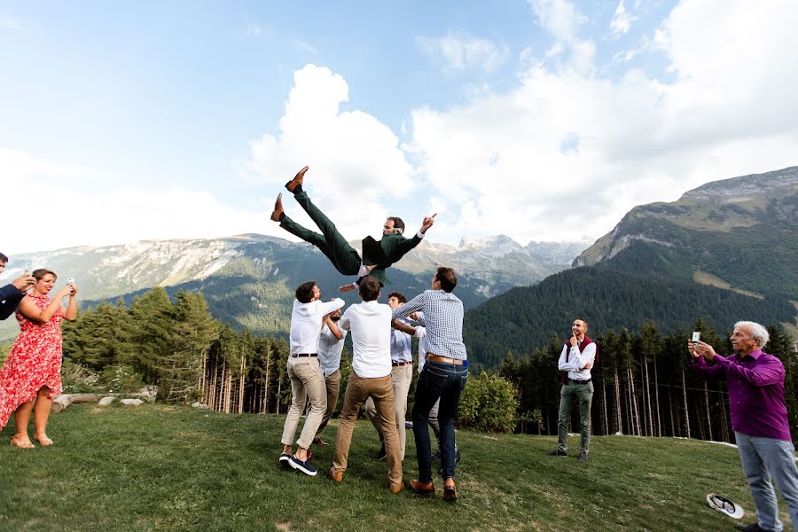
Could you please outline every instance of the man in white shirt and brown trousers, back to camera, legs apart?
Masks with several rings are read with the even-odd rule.
[[[376,278],[363,278],[358,290],[363,302],[352,305],[340,317],[341,328],[352,332],[354,356],[340,412],[330,473],[333,481],[343,480],[357,413],[366,399],[372,397],[385,436],[391,493],[399,493],[404,484],[391,379],[391,308],[377,302],[379,281]]]

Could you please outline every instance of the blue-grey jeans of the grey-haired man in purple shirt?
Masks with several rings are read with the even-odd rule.
[[[798,469],[795,468],[795,448],[793,442],[774,440],[760,436],[749,436],[739,432],[737,450],[746,473],[751,495],[756,506],[756,519],[765,530],[781,532],[783,525],[778,519],[776,492],[773,491],[771,476],[776,481],[778,491],[787,504],[787,512],[793,527],[798,527]]]

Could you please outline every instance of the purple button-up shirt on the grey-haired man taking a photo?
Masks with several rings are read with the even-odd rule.
[[[749,436],[792,440],[784,402],[784,364],[757,349],[747,356],[716,355],[708,365],[703,356],[692,359],[702,377],[726,378],[732,430]]]

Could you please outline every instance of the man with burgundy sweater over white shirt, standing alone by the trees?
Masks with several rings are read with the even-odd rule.
[[[582,427],[582,439],[579,442],[579,460],[586,462],[591,444],[591,403],[593,400],[593,383],[591,367],[596,358],[596,343],[585,336],[587,322],[575,319],[571,327],[573,336],[565,342],[559,355],[559,371],[567,372],[559,389],[559,423],[557,449],[549,454],[565,457],[568,450],[568,418],[574,403],[579,405],[579,421]]]

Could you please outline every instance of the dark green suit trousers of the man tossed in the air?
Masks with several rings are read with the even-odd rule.
[[[315,231],[310,231],[299,223],[294,222],[288,216],[285,216],[283,221],[280,222],[280,227],[305,242],[317,246],[342,275],[357,275],[357,271],[360,270],[361,260],[356,249],[349,246],[347,239],[344,239],[340,232],[335,229],[335,224],[330,222],[330,219],[318,210],[318,207],[313,205],[307,193],[304,191],[297,192],[293,197],[305,209],[310,219],[313,220],[313,223],[316,223],[318,229],[322,232],[319,234]]]

